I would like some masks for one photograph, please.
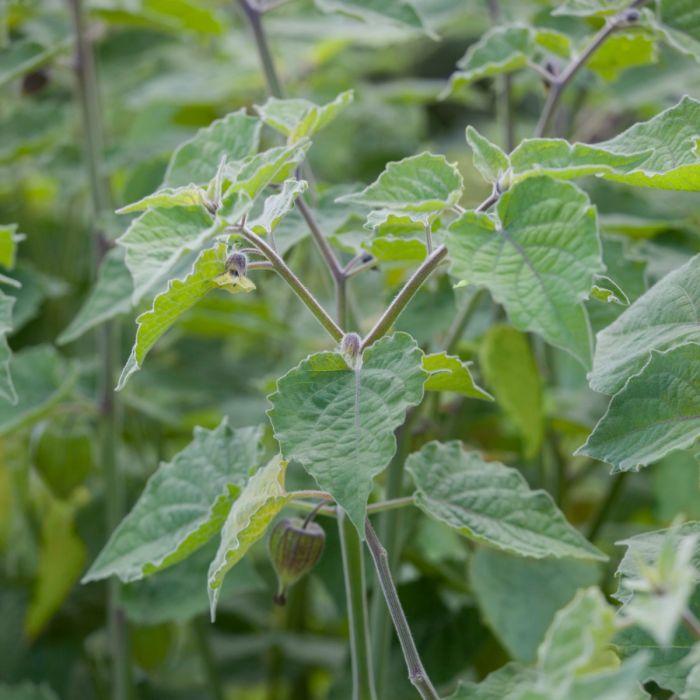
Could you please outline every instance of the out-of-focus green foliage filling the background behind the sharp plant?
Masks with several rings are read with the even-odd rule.
[[[265,16],[289,96],[324,103],[355,90],[353,105],[310,152],[321,226],[346,258],[357,250],[363,218],[332,206],[329,188],[369,182],[387,161],[428,149],[459,163],[463,205],[472,206],[488,190],[471,163],[464,127],[473,124],[506,146],[497,81],[441,98],[457,60],[492,25],[489,3],[417,0],[416,6],[439,40],[323,12],[307,0],[289,0]],[[265,87],[234,2],[91,0],[87,9],[116,209],[160,185],[175,146],[219,116],[262,103]],[[600,24],[551,10],[547,0],[501,7],[503,21],[555,28],[575,42]],[[70,14],[63,0],[2,0],[0,12],[0,224],[16,223],[24,234],[8,273],[22,286],[6,289],[16,297],[9,342],[20,401],[0,404],[0,683],[45,684],[39,694],[8,698],[107,698],[106,586],[78,583],[107,535],[94,398],[100,357],[93,333],[56,344],[94,275]],[[609,138],[682,94],[700,97],[700,71],[691,59],[660,45],[630,55],[603,57],[599,70],[581,72],[556,125],[559,135]],[[532,134],[545,87],[535,72],[520,71],[512,94],[517,143]],[[697,195],[633,191],[602,180],[585,186],[601,214],[611,276],[631,299],[700,250]],[[110,238],[125,229],[117,216],[100,226]],[[306,236],[296,212],[278,233],[289,244],[298,241],[290,264],[330,305],[331,282]],[[386,263],[355,279],[351,316],[363,319],[363,329],[410,269],[406,261]],[[436,276],[398,326],[425,349],[441,348],[470,294]],[[128,289],[122,297],[106,315],[119,312],[125,361],[138,309]],[[503,319],[486,295],[476,303],[457,349],[476,362],[497,402],[442,396],[423,413],[412,449],[454,437],[519,466],[612,560],[605,570],[552,561],[545,571],[540,563],[470,547],[436,523],[403,514],[399,590],[426,667],[446,688],[509,658],[531,661],[554,612],[578,587],[614,587],[616,540],[668,525],[678,512],[700,518],[691,453],[674,453],[633,479],[612,482],[605,465],[572,458],[602,412],[603,397],[588,389],[583,370],[565,354],[538,343],[517,352],[523,337],[490,325]],[[596,329],[622,308],[595,300],[589,306]],[[193,426],[214,427],[224,414],[234,426],[262,422],[274,379],[325,347],[315,323],[269,275],[254,295],[215,293],[188,313],[152,353],[147,371],[119,395],[125,503],[160,460],[189,441]],[[302,477],[291,472],[294,479]],[[335,528],[327,533],[322,563],[283,610],[272,605],[264,547],[231,576],[214,626],[205,619],[210,548],[126,586],[138,697],[349,698],[337,534]],[[392,700],[414,697],[398,647],[388,673]]]

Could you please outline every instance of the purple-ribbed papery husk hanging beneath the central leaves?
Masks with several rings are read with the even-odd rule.
[[[325,542],[326,533],[314,521],[283,518],[272,528],[267,548],[277,572],[275,603],[285,604],[287,589],[316,566]]]

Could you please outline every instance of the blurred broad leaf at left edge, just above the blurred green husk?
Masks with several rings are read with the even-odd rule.
[[[15,353],[12,378],[18,401],[0,402],[0,435],[18,430],[47,413],[74,387],[77,369],[50,345],[37,345]]]

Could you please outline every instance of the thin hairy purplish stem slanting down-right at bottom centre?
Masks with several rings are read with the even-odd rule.
[[[440,696],[437,694],[437,691],[430,682],[430,678],[423,667],[423,662],[420,659],[416,643],[413,640],[413,635],[408,626],[406,614],[401,607],[401,601],[399,600],[394,580],[391,577],[391,569],[389,567],[389,558],[386,549],[384,549],[377,534],[374,532],[369,518],[365,521],[365,536],[367,538],[367,546],[372,555],[372,561],[374,562],[374,568],[377,572],[379,585],[382,589],[387,607],[389,608],[389,614],[394,623],[396,636],[399,638],[401,651],[406,660],[408,679],[423,700],[440,700]]]

